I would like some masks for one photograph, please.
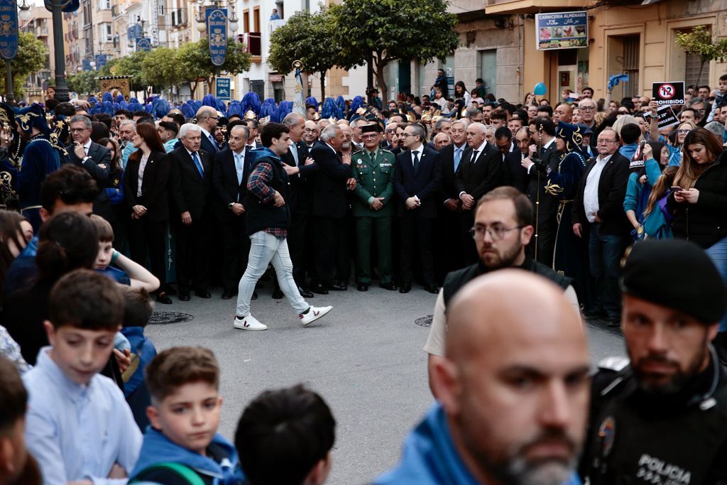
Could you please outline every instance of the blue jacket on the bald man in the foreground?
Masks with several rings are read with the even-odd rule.
[[[374,484],[478,484],[454,448],[441,404],[432,406],[424,420],[406,437],[401,463],[379,476]],[[574,473],[568,485],[578,484],[580,481]]]

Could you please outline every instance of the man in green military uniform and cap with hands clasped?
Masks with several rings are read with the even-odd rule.
[[[366,292],[371,284],[371,235],[376,234],[381,287],[395,290],[392,281],[391,217],[394,214],[393,179],[394,154],[379,148],[381,126],[368,124],[361,127],[364,150],[353,153],[351,167],[356,178],[353,193],[353,217],[356,218],[356,280],[359,292]]]

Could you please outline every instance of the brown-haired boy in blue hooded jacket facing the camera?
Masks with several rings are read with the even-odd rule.
[[[217,434],[220,366],[211,350],[164,350],[146,368],[151,426],[132,482],[237,485],[243,481],[235,447]]]

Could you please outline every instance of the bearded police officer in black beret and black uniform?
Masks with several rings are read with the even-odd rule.
[[[688,241],[649,239],[633,246],[621,289],[630,364],[606,359],[593,377],[582,476],[726,483],[727,369],[711,343],[726,308],[720,273]]]

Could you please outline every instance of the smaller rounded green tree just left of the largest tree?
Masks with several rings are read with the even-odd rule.
[[[324,8],[316,14],[302,10],[289,17],[285,25],[270,34],[270,68],[287,74],[293,71],[293,61],[300,60],[305,71],[321,73],[321,97],[325,98],[326,71],[344,63],[340,37],[335,35],[336,21]]]

